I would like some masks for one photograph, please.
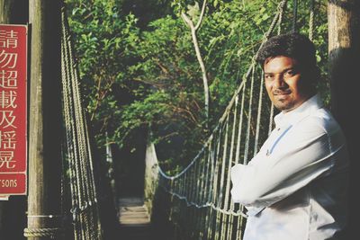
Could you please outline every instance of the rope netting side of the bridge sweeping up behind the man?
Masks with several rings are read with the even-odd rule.
[[[278,4],[259,49],[268,37],[281,33],[287,2]],[[293,7],[297,8],[297,1],[293,1]],[[293,31],[296,21],[294,10],[290,25]],[[309,21],[312,39],[313,2]],[[170,176],[163,172],[154,146],[148,148],[152,156],[147,153],[147,169],[152,173],[146,178],[152,177],[153,183],[146,180],[147,186],[152,188],[151,194],[156,194],[156,183],[171,194],[170,219],[177,228],[175,232],[182,235],[179,239],[241,239],[247,215],[244,207],[230,198],[230,169],[234,164],[247,164],[257,154],[273,129],[274,118],[274,106],[264,93],[264,74],[255,60],[257,53],[210,138],[181,173]]]

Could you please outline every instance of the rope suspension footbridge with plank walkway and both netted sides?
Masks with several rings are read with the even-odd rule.
[[[283,31],[299,31],[298,2],[293,1],[293,9],[288,9],[289,2],[279,1],[262,42]],[[306,31],[311,40],[316,38],[315,2],[311,1],[306,17]],[[112,192],[112,183],[102,177],[103,169],[96,164],[95,158],[99,156],[94,150],[96,147],[83,106],[80,75],[64,6],[60,13],[61,42],[58,50],[61,61],[62,133],[59,152],[62,162],[58,189],[61,194],[58,194],[56,209],[50,208],[51,203],[37,208],[31,204],[42,196],[41,192],[31,191],[32,208],[27,212],[27,218],[31,220],[23,236],[30,239],[76,240],[242,239],[247,212],[230,198],[230,169],[234,164],[247,164],[257,154],[274,127],[275,115],[274,106],[267,100],[264,90],[264,73],[256,63],[257,51],[247,71],[238,79],[238,87],[209,138],[189,164],[173,175],[166,173],[157,159],[157,147],[148,140],[143,159],[144,193],[141,196],[105,199],[103,189]],[[291,13],[293,18],[287,19],[287,13]],[[37,20],[32,21],[36,27]],[[35,27],[32,34],[36,33]],[[258,49],[261,46],[262,43]],[[35,65],[39,61],[32,62]],[[35,85],[33,92],[39,93],[41,86],[41,83]],[[40,103],[46,105],[46,102]],[[41,111],[40,105],[32,107]],[[36,151],[42,154],[41,149]],[[37,177],[33,176],[33,182],[43,180]],[[44,186],[47,187],[47,184]]]

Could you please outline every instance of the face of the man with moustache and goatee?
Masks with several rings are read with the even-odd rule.
[[[281,111],[292,111],[310,98],[311,91],[293,58],[278,56],[264,64],[266,91]]]

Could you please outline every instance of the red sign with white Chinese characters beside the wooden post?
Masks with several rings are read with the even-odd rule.
[[[0,195],[27,192],[26,25],[0,24]]]

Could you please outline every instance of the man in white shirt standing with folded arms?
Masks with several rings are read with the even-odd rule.
[[[299,33],[275,36],[257,60],[281,112],[257,156],[231,169],[232,199],[247,208],[244,240],[338,239],[347,221],[347,147],[316,92],[314,45]]]

